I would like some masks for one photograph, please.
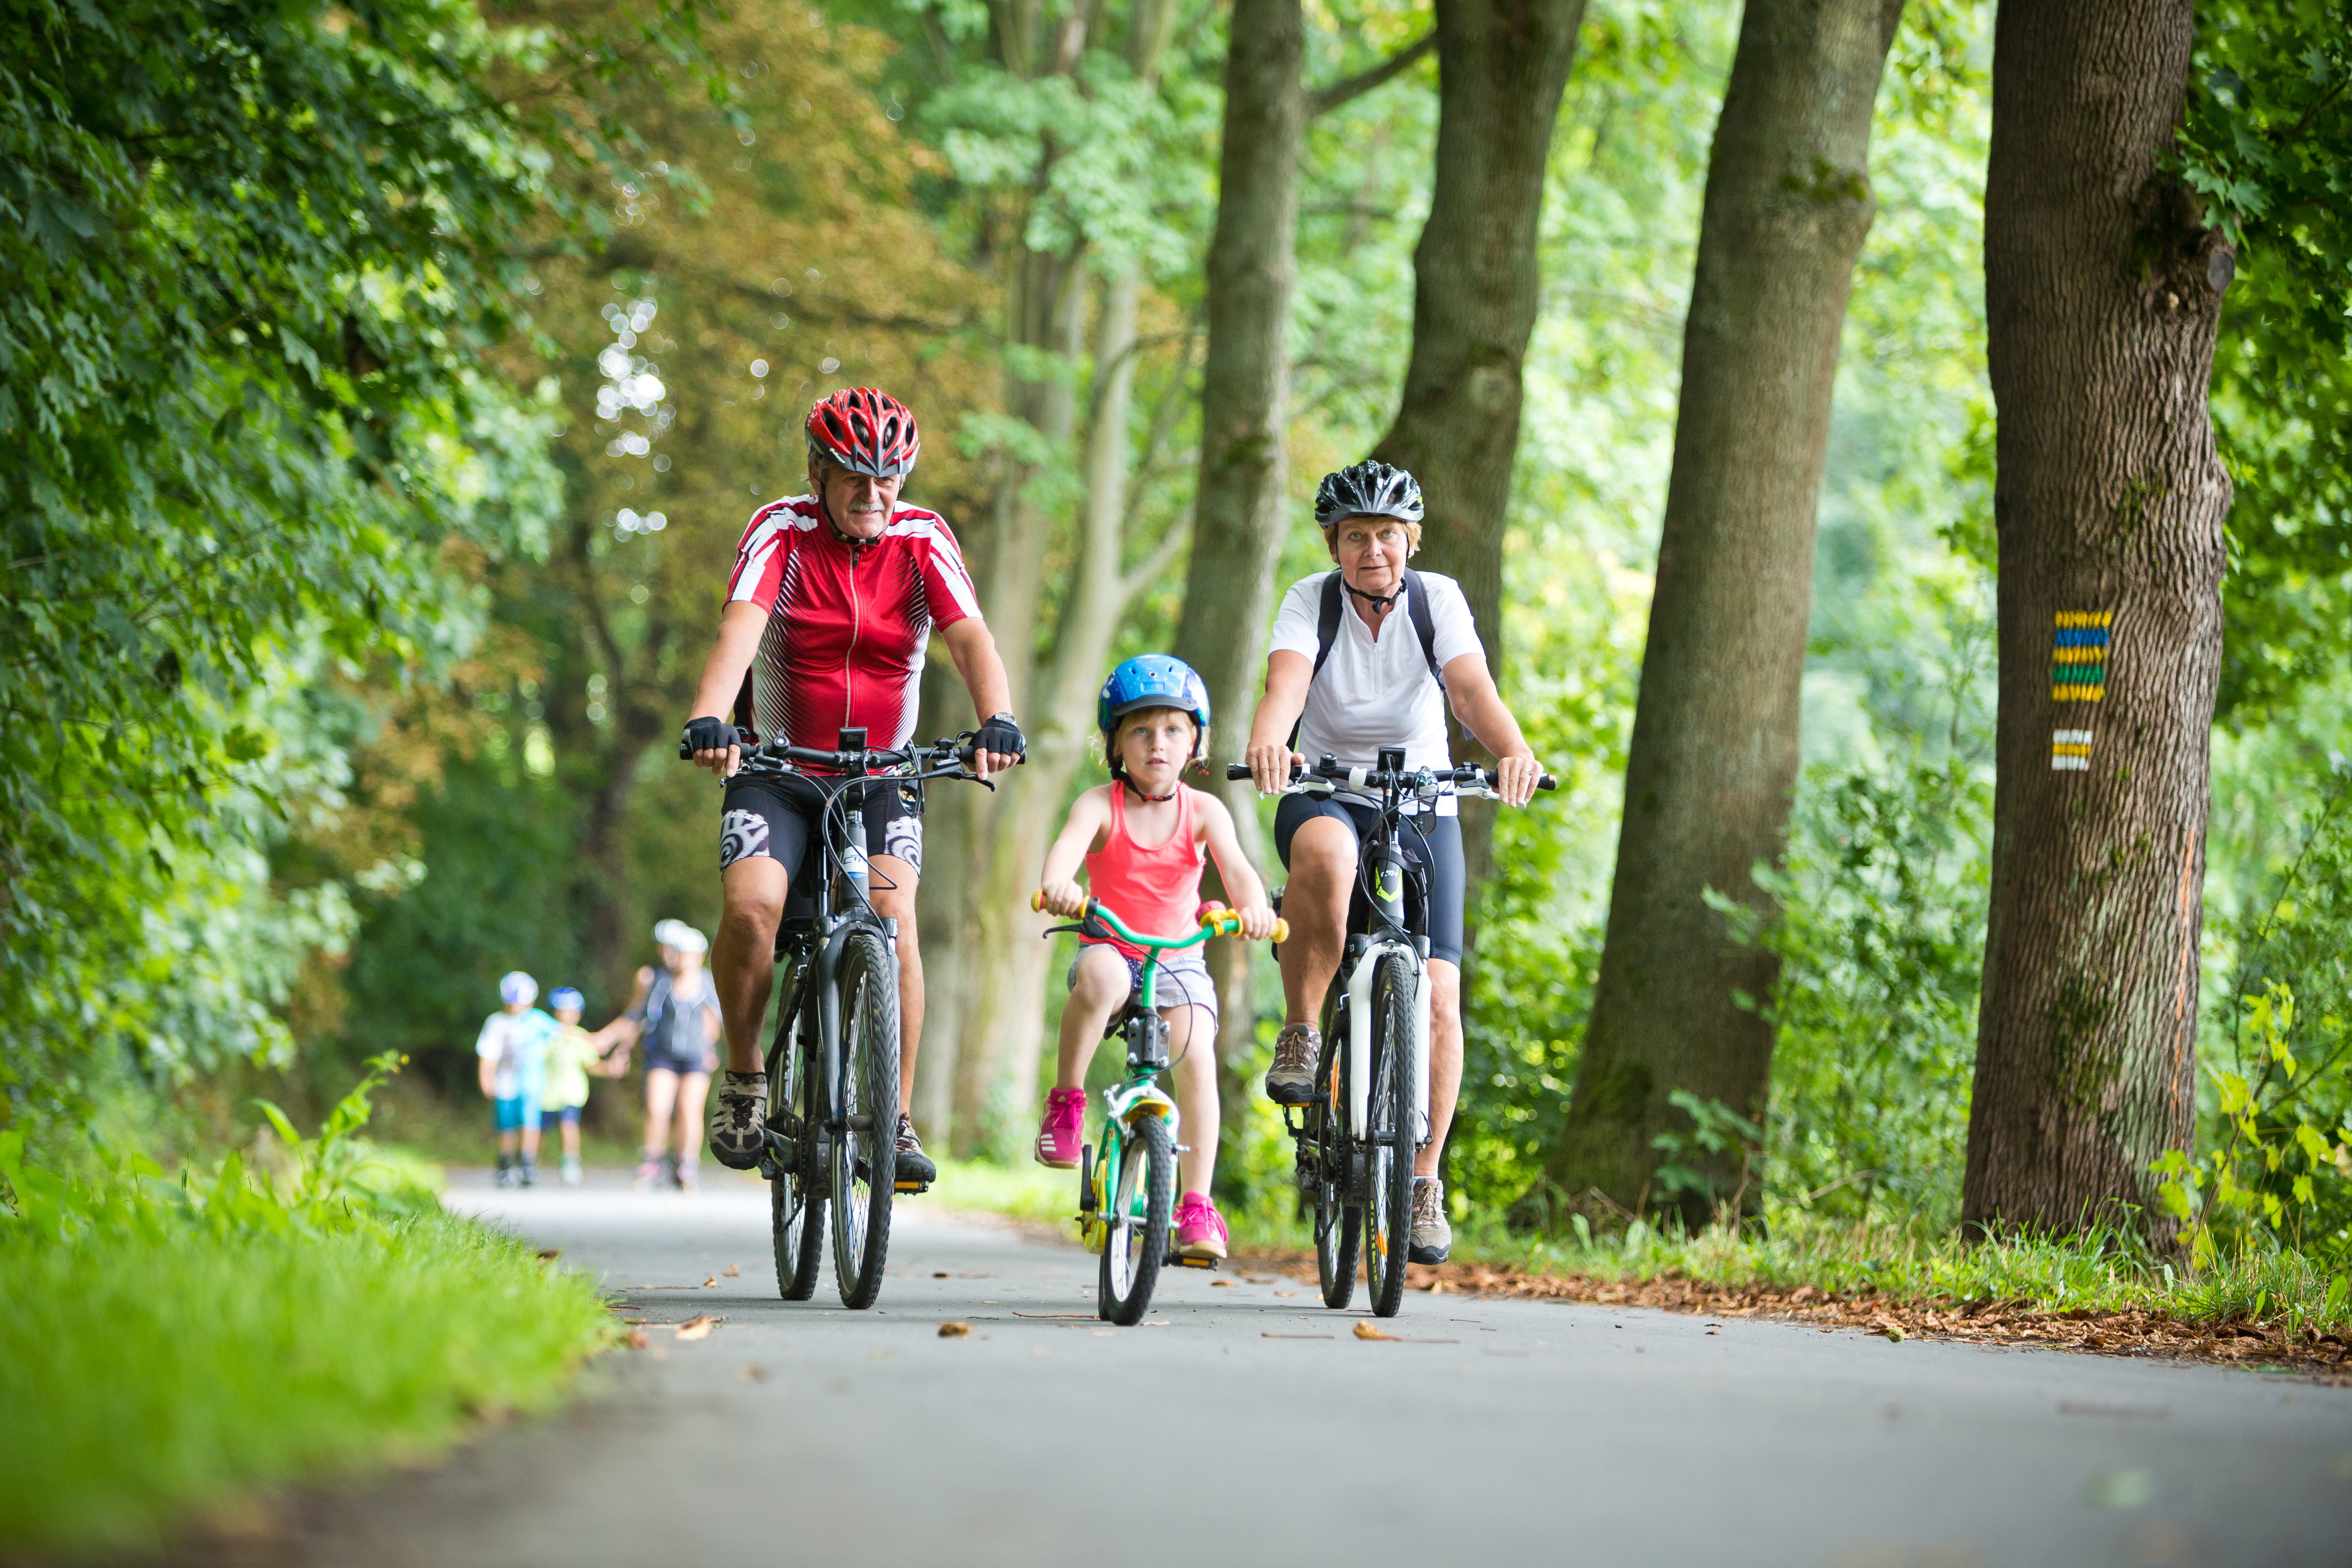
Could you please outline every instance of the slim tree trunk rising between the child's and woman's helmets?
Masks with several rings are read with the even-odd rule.
[[[1209,240],[1209,350],[1200,390],[1200,487],[1176,656],[1209,686],[1221,745],[1211,785],[1232,806],[1242,851],[1268,875],[1251,788],[1223,764],[1249,736],[1282,557],[1289,451],[1291,294],[1298,287],[1298,148],[1305,136],[1298,0],[1235,0],[1225,52],[1225,139]],[[1225,1143],[1242,1131],[1242,1065],[1256,1037],[1249,945],[1209,943],[1223,1018],[1216,1039]],[[1221,1161],[1223,1164],[1223,1161]]]

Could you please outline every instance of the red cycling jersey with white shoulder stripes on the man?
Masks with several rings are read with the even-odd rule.
[[[769,614],[753,661],[753,726],[814,750],[861,726],[868,745],[906,745],[931,625],[981,614],[938,512],[901,505],[880,536],[844,545],[816,496],[750,515],[727,597]]]

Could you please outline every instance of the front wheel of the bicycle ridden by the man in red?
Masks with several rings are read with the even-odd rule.
[[[898,961],[880,931],[851,931],[842,997],[842,1128],[833,1138],[833,1284],[842,1305],[882,1295],[898,1178]],[[866,1126],[858,1126],[863,1121]]]

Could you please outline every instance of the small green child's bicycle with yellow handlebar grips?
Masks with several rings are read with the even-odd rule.
[[[1044,893],[1030,893],[1030,907],[1044,910]],[[1160,954],[1207,943],[1211,936],[1242,936],[1242,917],[1223,905],[1200,912],[1190,936],[1136,936],[1098,898],[1075,926],[1051,926],[1047,936],[1077,931],[1096,940],[1112,936],[1143,950],[1143,978],[1112,1030],[1127,1041],[1127,1081],[1103,1091],[1103,1145],[1082,1145],[1077,1157],[1077,1229],[1089,1253],[1101,1253],[1096,1314],[1122,1328],[1134,1328],[1152,1305],[1160,1265],[1169,1258],[1169,1220],[1176,1208],[1176,1143],[1181,1117],[1176,1100],[1160,1088],[1169,1063],[1169,1023],[1160,1016]],[[1275,922],[1275,940],[1289,926]],[[1188,1046],[1190,1048],[1190,1046]]]

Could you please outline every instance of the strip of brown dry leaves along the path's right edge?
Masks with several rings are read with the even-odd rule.
[[[1251,1267],[1315,1276],[1310,1253],[1254,1253]],[[2352,1342],[2305,1328],[2288,1335],[2277,1324],[2192,1324],[2161,1312],[2051,1312],[2018,1300],[1898,1302],[1884,1295],[1832,1295],[1816,1286],[1708,1286],[1691,1279],[1592,1279],[1590,1274],[1531,1274],[1475,1262],[1409,1265],[1416,1291],[1559,1300],[1592,1307],[1658,1307],[1708,1319],[1755,1316],[1825,1328],[1858,1328],[1889,1340],[1966,1340],[1976,1345],[2039,1345],[2103,1356],[2154,1356],[2220,1366],[2274,1366],[2352,1385]]]

